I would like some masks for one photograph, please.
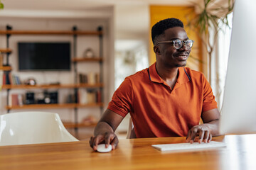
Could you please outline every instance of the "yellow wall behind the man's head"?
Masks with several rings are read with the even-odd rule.
[[[191,6],[150,6],[150,30],[155,23],[165,18],[178,18],[183,24],[188,34],[188,38],[194,40],[194,45],[191,50],[191,55],[188,57],[187,67],[203,72],[203,58],[202,58],[202,43],[201,39],[194,31],[191,31],[186,25],[187,21],[195,14],[194,8]],[[149,64],[156,62],[156,55],[153,50],[153,42],[151,41],[150,31],[150,56]]]

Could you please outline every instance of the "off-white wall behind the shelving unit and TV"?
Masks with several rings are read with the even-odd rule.
[[[114,27],[112,18],[102,18],[102,19],[88,19],[88,18],[20,18],[20,17],[1,17],[0,30],[5,30],[6,24],[13,27],[13,30],[72,30],[73,26],[77,26],[78,30],[96,30],[98,26],[103,27],[104,36],[104,101],[105,107],[110,101],[112,96],[112,91],[114,91]],[[21,80],[33,77],[36,79],[38,84],[50,84],[59,81],[60,84],[73,84],[74,83],[74,72],[73,67],[70,72],[18,72],[18,52],[17,52],[17,42],[21,41],[31,41],[31,42],[52,42],[52,41],[69,41],[73,48],[73,36],[71,35],[11,35],[10,38],[10,48],[13,50],[9,57],[9,62],[13,68],[12,73],[17,74]],[[77,55],[82,57],[83,52],[87,47],[92,47],[95,54],[99,55],[99,40],[97,36],[78,36],[78,47]],[[0,48],[6,47],[6,36],[0,35]],[[73,57],[73,53],[71,54]],[[99,72],[98,63],[79,63],[78,72]],[[56,89],[50,89],[53,91]],[[25,94],[26,91],[43,91],[38,90],[11,90],[11,93],[21,93]],[[59,89],[59,103],[65,103],[68,94],[73,93],[73,89]],[[6,113],[6,90],[1,91],[0,98],[0,114]],[[11,110],[11,113],[24,110]],[[31,110],[28,110],[31,111]],[[33,111],[50,111],[60,114],[60,118],[63,120],[73,120],[74,115],[73,109],[46,109]],[[85,118],[87,115],[95,115],[100,117],[100,108],[79,108],[79,119]]]

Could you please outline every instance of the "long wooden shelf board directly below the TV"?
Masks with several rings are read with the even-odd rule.
[[[1,68],[1,67],[0,67]],[[99,88],[103,84],[37,84],[37,85],[11,85],[6,84],[2,89],[67,89],[67,88]]]

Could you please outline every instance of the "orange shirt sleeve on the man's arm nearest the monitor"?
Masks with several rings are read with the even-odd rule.
[[[203,112],[210,111],[213,108],[218,108],[213,90],[210,87],[206,77],[203,76]]]

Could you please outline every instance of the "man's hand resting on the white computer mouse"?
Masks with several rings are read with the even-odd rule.
[[[106,147],[112,145],[112,150],[114,150],[118,145],[117,135],[113,132],[106,132],[103,135],[97,135],[90,138],[90,147],[92,147],[92,149],[96,150],[97,145],[99,144],[105,144]]]

